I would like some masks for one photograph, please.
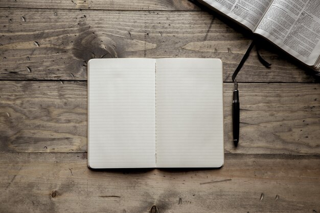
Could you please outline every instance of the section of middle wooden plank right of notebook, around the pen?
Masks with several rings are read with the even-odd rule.
[[[232,153],[319,154],[317,84],[239,84],[240,142],[232,134],[233,85],[224,84],[224,144]]]

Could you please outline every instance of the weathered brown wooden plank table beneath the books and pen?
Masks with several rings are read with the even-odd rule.
[[[320,212],[320,85],[272,47],[187,0],[0,1],[0,212]],[[91,58],[220,58],[221,169],[86,165]]]

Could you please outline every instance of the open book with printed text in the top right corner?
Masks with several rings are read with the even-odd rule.
[[[319,0],[199,0],[320,71]]]

